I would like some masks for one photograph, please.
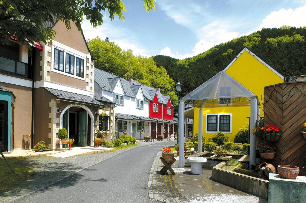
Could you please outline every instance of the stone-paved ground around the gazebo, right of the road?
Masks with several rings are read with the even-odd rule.
[[[161,153],[155,157],[149,176],[148,191],[151,199],[161,202],[190,203],[264,203],[265,199],[228,187],[211,179],[211,170],[203,174],[191,174],[190,168],[178,168],[178,161],[173,165],[176,175],[160,175]]]

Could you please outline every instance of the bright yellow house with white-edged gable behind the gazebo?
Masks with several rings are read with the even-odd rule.
[[[263,116],[263,88],[281,83],[284,77],[247,48],[224,69],[233,79],[258,97],[260,116]],[[219,89],[222,96],[231,95],[230,87]],[[216,132],[224,132],[234,141],[236,133],[248,122],[250,101],[247,97],[207,100],[203,105],[203,136],[206,140]],[[193,130],[199,132],[199,108],[193,109]]]

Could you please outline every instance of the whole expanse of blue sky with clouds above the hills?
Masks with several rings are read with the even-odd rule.
[[[96,29],[84,21],[85,38],[99,36],[142,56],[187,58],[262,27],[306,26],[306,0],[156,0],[145,11],[141,0],[123,0],[125,21],[104,16]]]

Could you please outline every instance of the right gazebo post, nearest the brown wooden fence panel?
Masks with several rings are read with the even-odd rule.
[[[257,121],[257,99],[251,100],[251,119],[250,119],[250,129],[256,127]],[[253,132],[250,133],[250,164],[256,164],[256,136]]]

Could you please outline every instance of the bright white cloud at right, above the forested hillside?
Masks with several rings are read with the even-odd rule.
[[[263,27],[281,27],[282,25],[290,25],[294,27],[306,26],[306,4],[304,6],[298,7],[293,10],[290,9],[280,9],[279,11],[273,11],[271,14],[267,15],[265,19],[262,20],[258,30]]]

